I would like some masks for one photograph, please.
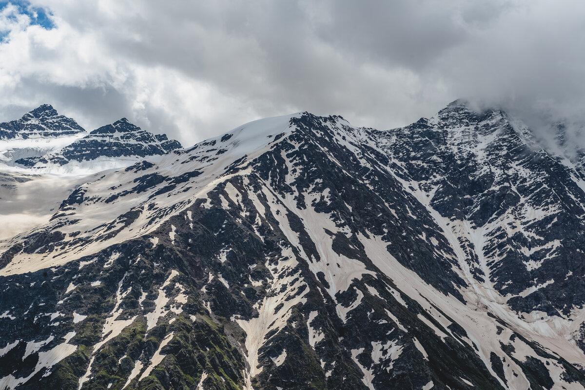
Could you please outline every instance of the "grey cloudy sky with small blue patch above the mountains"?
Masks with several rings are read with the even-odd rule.
[[[0,120],[41,103],[185,145],[297,111],[386,129],[456,98],[585,112],[585,2],[0,1]]]

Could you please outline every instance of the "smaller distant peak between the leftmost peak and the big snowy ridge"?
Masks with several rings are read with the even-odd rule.
[[[34,170],[70,165],[96,171],[124,167],[145,157],[180,148],[179,141],[169,140],[165,134],[149,133],[122,118],[112,125],[99,127],[60,150],[42,157],[20,158],[15,163]]]

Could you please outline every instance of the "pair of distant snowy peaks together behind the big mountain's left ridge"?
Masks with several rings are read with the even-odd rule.
[[[47,104],[0,123],[0,161],[37,172],[119,168],[180,148],[178,141],[142,130],[126,118],[88,133]]]

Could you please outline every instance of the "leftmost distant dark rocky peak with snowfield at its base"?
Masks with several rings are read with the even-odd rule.
[[[43,104],[22,118],[0,123],[0,163],[38,157],[79,139],[85,130],[71,118]]]

